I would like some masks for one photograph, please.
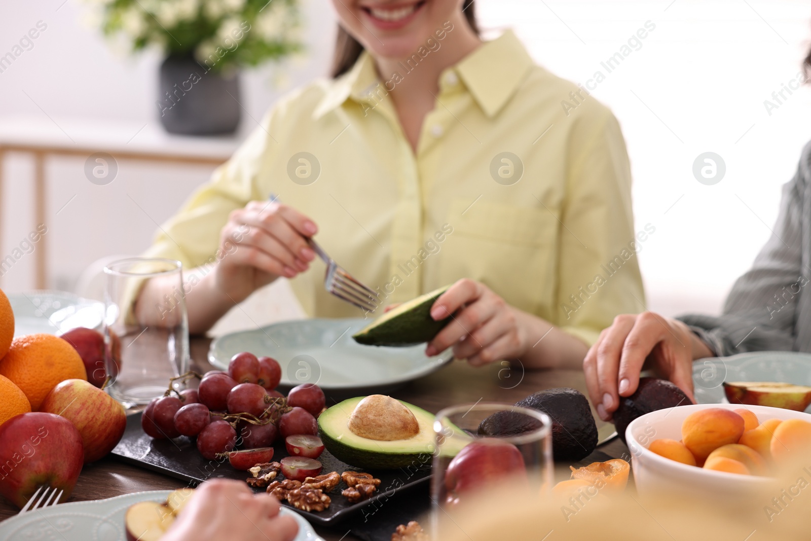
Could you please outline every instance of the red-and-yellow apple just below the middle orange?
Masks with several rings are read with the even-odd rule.
[[[45,397],[40,411],[58,414],[82,436],[84,462],[95,462],[113,450],[127,427],[124,407],[84,380],[64,380]]]

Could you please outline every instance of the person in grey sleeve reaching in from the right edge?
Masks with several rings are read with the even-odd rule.
[[[811,75],[811,51],[805,58]],[[811,143],[783,186],[772,236],[732,287],[721,316],[617,316],[591,347],[583,369],[604,420],[637,389],[643,363],[693,398],[693,361],[744,351],[811,353]]]

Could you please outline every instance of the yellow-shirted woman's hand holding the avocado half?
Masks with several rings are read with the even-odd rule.
[[[431,317],[453,320],[428,343],[425,354],[453,346],[453,356],[474,366],[499,359],[517,359],[526,351],[526,329],[517,309],[478,281],[463,278],[431,307]]]

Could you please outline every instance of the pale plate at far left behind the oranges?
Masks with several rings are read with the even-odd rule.
[[[101,328],[104,304],[66,291],[29,291],[10,294],[14,336],[60,334],[76,327]]]

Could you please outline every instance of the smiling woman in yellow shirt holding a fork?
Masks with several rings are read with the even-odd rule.
[[[427,354],[579,367],[644,302],[616,119],[513,32],[481,41],[473,0],[333,6],[333,79],[273,107],[148,251],[191,269],[191,332],[277,277],[310,316],[358,316],[324,291],[317,234],[384,303],[455,282]],[[141,291],[141,320],[159,318],[163,287]]]

